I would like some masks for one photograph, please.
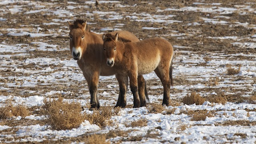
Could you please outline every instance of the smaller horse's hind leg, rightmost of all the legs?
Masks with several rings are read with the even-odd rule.
[[[155,70],[156,75],[160,78],[162,85],[164,87],[164,98],[162,105],[169,106],[170,101],[170,88],[171,81],[169,76],[169,67],[168,66],[158,66]]]

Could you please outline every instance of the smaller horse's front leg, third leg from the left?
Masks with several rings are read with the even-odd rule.
[[[130,79],[130,88],[133,95],[133,108],[139,108],[140,107],[140,97],[138,93],[138,72],[134,71],[131,74],[129,74]]]

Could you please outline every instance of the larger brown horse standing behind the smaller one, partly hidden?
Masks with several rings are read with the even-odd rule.
[[[118,80],[120,93],[116,106],[124,108],[126,106],[126,92],[128,87],[128,77],[122,76],[116,73],[112,68],[106,66],[106,59],[103,58],[103,41],[102,34],[96,34],[90,32],[86,27],[86,21],[77,19],[73,24],[68,22],[70,28],[70,51],[75,60],[77,60],[79,68],[82,70],[84,78],[88,83],[88,88],[91,95],[91,108],[100,108],[100,103],[97,96],[97,88],[99,76],[111,76],[116,75]],[[116,33],[116,32],[112,32]],[[138,42],[139,39],[132,33],[127,31],[118,31],[118,33],[132,41]],[[139,94],[142,101],[141,106],[146,106],[145,96],[148,99],[146,84],[143,76],[138,77],[139,82]]]

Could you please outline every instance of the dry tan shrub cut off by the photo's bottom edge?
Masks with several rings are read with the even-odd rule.
[[[110,142],[106,141],[104,134],[92,134],[84,140],[84,144],[110,144]]]

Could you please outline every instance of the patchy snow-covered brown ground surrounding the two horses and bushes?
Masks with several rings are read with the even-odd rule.
[[[253,0],[100,0],[99,6],[94,1],[82,0],[1,1],[0,103],[2,106],[12,97],[14,103],[24,102],[32,115],[14,117],[8,122],[0,120],[5,121],[0,126],[0,142],[52,143],[68,138],[78,142],[84,134],[107,134],[114,130],[127,135],[108,138],[112,143],[255,143],[256,106],[246,99],[256,94],[255,14]],[[81,102],[82,106],[90,101],[86,81],[69,52],[66,21],[76,18],[87,20],[97,33],[128,30],[140,39],[169,40],[175,50],[174,87],[170,96],[178,105],[167,109],[175,108],[174,114],[151,114],[145,107],[131,108],[133,97],[129,90],[128,108],[111,118],[111,126],[100,128],[85,121],[72,130],[47,129],[41,122],[44,116],[37,112],[45,97],[61,94],[65,100]],[[229,66],[238,65],[238,74],[227,74]],[[154,73],[144,78],[150,103],[161,103],[160,80]],[[216,78],[218,82],[214,84]],[[101,106],[114,107],[118,92],[114,76],[100,77]],[[228,102],[184,105],[182,98],[191,92],[204,97],[223,96]],[[214,117],[191,121],[191,116],[184,113],[186,110],[208,110]],[[140,119],[146,119],[147,126],[129,126]],[[182,130],[182,126],[186,129]]]

